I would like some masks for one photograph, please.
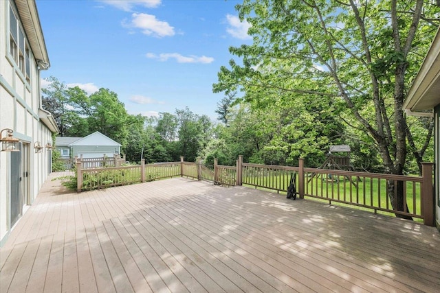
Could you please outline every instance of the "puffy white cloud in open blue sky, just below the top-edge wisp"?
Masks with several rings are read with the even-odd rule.
[[[156,16],[146,13],[131,14],[131,22],[122,22],[124,27],[133,27],[140,29],[142,34],[147,36],[156,36],[162,38],[164,36],[174,36],[174,27],[170,26],[166,21],[159,21]]]

